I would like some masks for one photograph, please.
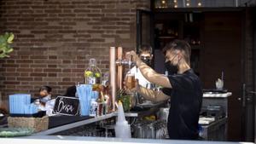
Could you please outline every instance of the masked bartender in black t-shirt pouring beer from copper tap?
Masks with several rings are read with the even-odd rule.
[[[144,78],[164,87],[161,92],[156,92],[138,85],[137,91],[158,101],[165,100],[166,95],[171,96],[167,123],[169,137],[175,140],[197,140],[202,88],[201,80],[190,68],[191,48],[189,43],[183,40],[174,40],[166,45],[163,52],[166,55],[165,66],[169,72],[168,76],[155,72],[140,60],[134,51],[126,54],[127,57],[133,57],[132,60]]]

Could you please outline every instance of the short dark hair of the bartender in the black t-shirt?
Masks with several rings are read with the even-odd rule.
[[[168,50],[180,50],[183,52],[184,59],[190,64],[191,47],[188,42],[184,40],[173,40],[171,43],[167,43],[163,49],[164,55]]]

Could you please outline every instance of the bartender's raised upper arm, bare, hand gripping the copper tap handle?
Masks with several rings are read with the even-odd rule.
[[[143,77],[146,78],[150,83],[158,84],[165,88],[172,88],[169,79],[154,71],[151,67],[146,65],[142,60],[140,60],[137,54],[134,51],[129,52],[127,55],[132,55],[136,66],[140,69],[143,74]]]

